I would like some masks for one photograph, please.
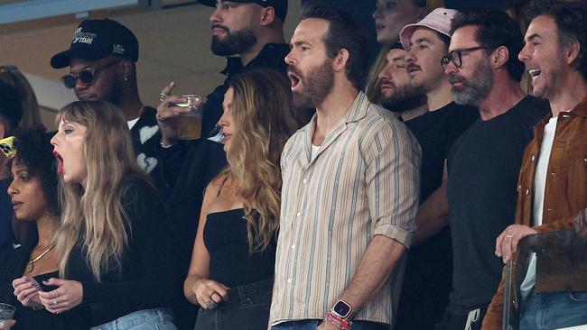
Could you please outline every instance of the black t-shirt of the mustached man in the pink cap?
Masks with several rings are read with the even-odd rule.
[[[476,107],[451,102],[405,122],[422,148],[420,203],[443,182],[444,160],[452,143],[479,118]],[[433,329],[448,304],[452,245],[448,226],[410,249],[405,266],[396,329]],[[426,315],[426,317],[422,317]]]

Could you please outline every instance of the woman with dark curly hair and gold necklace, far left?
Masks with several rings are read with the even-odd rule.
[[[60,225],[57,171],[50,143],[43,130],[14,134],[16,154],[10,161],[12,183],[8,194],[19,225],[29,229],[21,245],[0,267],[0,302],[16,307],[16,329],[62,329],[57,316],[42,306],[39,291],[54,289],[42,283],[58,276],[55,233]],[[74,317],[66,313],[64,317]]]

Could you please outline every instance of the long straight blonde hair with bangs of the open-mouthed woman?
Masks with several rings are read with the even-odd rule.
[[[80,124],[87,129],[83,156],[88,172],[86,188],[60,179],[61,227],[56,234],[61,277],[73,247],[82,241],[82,250],[96,280],[109,270],[120,269],[128,245],[129,223],[122,206],[128,175],[146,179],[136,164],[133,145],[122,111],[98,101],[66,105],[56,122]],[[148,180],[148,179],[147,179]]]

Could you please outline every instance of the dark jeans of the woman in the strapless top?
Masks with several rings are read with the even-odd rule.
[[[273,280],[230,288],[228,301],[214,309],[200,308],[195,330],[266,330]]]

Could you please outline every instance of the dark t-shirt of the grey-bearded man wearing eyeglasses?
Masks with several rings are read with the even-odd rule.
[[[549,111],[544,100],[526,96],[507,113],[472,124],[449,152],[452,314],[489,305],[498,289],[503,262],[494,254],[495,240],[514,222],[524,150]]]

